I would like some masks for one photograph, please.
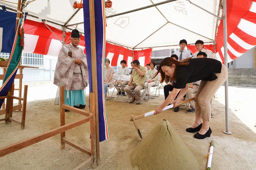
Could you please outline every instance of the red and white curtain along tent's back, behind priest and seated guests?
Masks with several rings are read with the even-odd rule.
[[[52,26],[48,26],[52,32],[62,41],[63,32]],[[62,43],[58,38],[44,25],[36,21],[26,20],[24,24],[24,41],[25,47],[23,52],[36,53],[43,55],[58,56]],[[67,42],[70,36],[70,32],[66,32],[65,42]],[[79,47],[85,49],[84,36],[81,35]],[[139,60],[140,65],[146,66],[151,62],[152,48],[134,51],[134,60]],[[85,50],[84,53],[86,54]],[[132,50],[127,48],[112,45],[106,43],[105,57],[110,60],[111,66],[120,66],[121,60],[127,62],[126,66],[130,67],[130,63],[133,61]],[[128,65],[129,64],[129,65]]]

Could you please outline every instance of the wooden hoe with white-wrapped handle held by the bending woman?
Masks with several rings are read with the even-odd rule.
[[[191,98],[191,99],[183,100],[183,101],[179,102],[177,105],[181,105],[181,104],[187,103],[187,102],[192,101],[192,100],[195,100],[195,98],[193,97],[193,98]],[[169,106],[166,106],[166,107],[164,107],[163,111],[164,111],[164,110],[167,110],[167,109],[170,109],[170,108],[172,108],[172,107],[173,107],[173,104],[171,104],[171,105],[169,105]],[[155,112],[155,110],[150,111],[150,112],[145,113],[145,114],[142,114],[142,115],[139,115],[139,116],[136,116],[136,117],[134,117],[133,115],[131,116],[130,121],[131,121],[131,122],[133,121],[133,124],[134,124],[134,126],[135,126],[135,129],[137,130],[137,132],[138,132],[138,134],[139,134],[139,136],[140,136],[141,139],[142,139],[142,135],[141,135],[141,132],[140,132],[140,129],[139,129],[139,126],[138,126],[136,120],[138,120],[138,119],[140,119],[140,118],[143,118],[143,117],[150,116],[150,115],[154,115],[154,112]]]

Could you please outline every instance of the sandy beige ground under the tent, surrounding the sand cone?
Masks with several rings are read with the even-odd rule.
[[[16,123],[6,125],[3,121],[0,122],[0,147],[60,126],[59,106],[53,105],[55,94],[56,86],[29,87],[25,129],[20,130],[20,126]],[[194,134],[185,131],[192,125],[195,114],[187,114],[184,109],[180,109],[179,112],[169,109],[160,115],[138,120],[142,135],[148,135],[158,122],[167,119],[195,155],[201,169],[206,169],[205,156],[209,152],[211,140],[215,144],[213,170],[256,169],[256,127],[254,127],[256,125],[254,108],[256,89],[229,87],[229,123],[232,135],[222,132],[225,130],[224,86],[220,87],[216,94],[212,108],[214,117],[210,124],[213,131],[211,137],[198,140],[193,137]],[[137,116],[153,110],[163,100],[163,89],[159,97],[143,102],[141,105],[116,102],[114,99],[107,100],[109,139],[100,142],[100,164],[95,169],[137,169],[131,166],[130,155],[141,139],[129,119],[131,115]],[[88,97],[86,101],[88,102]],[[85,110],[89,110],[88,106]],[[3,117],[4,115],[0,116],[0,119]],[[13,113],[13,118],[19,120],[20,117],[19,112]],[[82,115],[66,113],[66,123],[81,118],[83,118]],[[90,147],[89,133],[89,123],[87,123],[67,131],[66,136],[85,147]],[[88,158],[87,155],[68,145],[61,150],[60,135],[56,135],[0,158],[0,169],[73,169],[86,158]]]

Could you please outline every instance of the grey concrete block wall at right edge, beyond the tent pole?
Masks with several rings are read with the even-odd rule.
[[[256,87],[256,69],[228,69],[228,85]]]

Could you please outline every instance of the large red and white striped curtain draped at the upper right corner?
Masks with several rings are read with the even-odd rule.
[[[227,1],[228,63],[256,45],[256,0]],[[224,63],[223,20],[216,36],[216,56]]]

